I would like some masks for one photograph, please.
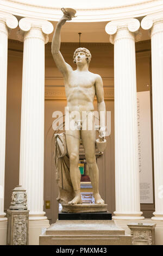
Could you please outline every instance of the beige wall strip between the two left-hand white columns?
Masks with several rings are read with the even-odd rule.
[[[12,189],[19,180],[22,63],[22,52],[8,51],[4,210],[9,208]]]

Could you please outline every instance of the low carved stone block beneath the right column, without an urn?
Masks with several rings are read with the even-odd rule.
[[[156,224],[152,223],[130,223],[133,245],[154,245],[154,229]]]

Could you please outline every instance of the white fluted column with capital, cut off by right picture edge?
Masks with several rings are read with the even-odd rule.
[[[163,14],[148,15],[141,27],[151,29],[155,212],[163,221]]]

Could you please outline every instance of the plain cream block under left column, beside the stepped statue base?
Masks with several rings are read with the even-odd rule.
[[[48,227],[48,220],[29,220],[29,245],[39,245],[39,236],[42,234],[42,229]]]

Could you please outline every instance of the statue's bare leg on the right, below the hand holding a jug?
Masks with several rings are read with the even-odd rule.
[[[84,123],[88,121],[88,117],[85,118],[83,121],[82,127],[84,127]],[[85,157],[86,163],[89,167],[89,176],[91,179],[91,184],[93,187],[93,196],[95,197],[96,204],[104,204],[104,200],[99,195],[98,191],[98,179],[99,179],[99,172],[96,163],[96,131],[95,131],[95,124],[93,122],[93,129],[92,130],[81,130],[81,137],[82,142],[85,150]],[[88,123],[88,122],[87,122]],[[85,125],[85,127],[87,127]]]

